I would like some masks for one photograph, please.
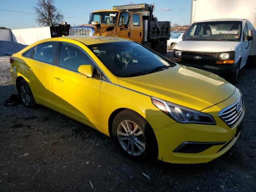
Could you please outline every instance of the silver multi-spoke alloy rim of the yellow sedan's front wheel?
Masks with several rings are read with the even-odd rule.
[[[141,155],[146,148],[146,139],[140,127],[130,121],[120,122],[117,128],[118,141],[122,148],[131,155]]]

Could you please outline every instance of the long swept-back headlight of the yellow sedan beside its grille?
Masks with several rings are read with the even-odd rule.
[[[213,117],[209,114],[177,105],[156,97],[151,97],[152,103],[162,112],[180,123],[215,124]]]

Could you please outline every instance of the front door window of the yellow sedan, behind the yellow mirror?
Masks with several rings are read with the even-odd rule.
[[[60,49],[59,66],[78,71],[80,65],[92,65],[92,60],[80,48],[63,43]]]

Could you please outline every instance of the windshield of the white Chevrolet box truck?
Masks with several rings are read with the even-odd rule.
[[[241,22],[214,21],[192,24],[183,40],[239,41]]]

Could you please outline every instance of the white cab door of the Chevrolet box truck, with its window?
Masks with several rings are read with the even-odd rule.
[[[248,36],[248,27],[246,21],[243,21],[243,42],[242,42],[242,62],[240,68],[245,66],[246,60],[249,54],[249,41],[247,40]]]

